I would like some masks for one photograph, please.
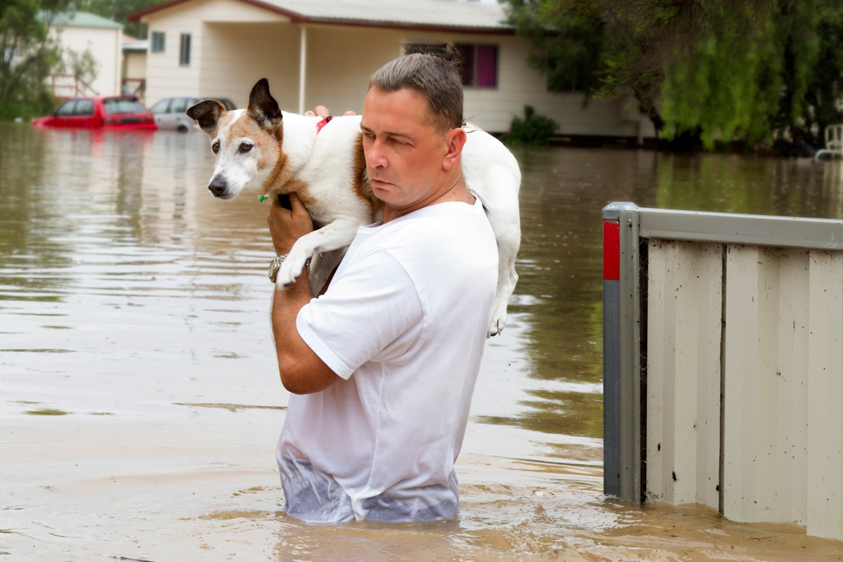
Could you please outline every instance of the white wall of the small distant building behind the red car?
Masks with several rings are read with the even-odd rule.
[[[89,28],[89,27],[54,27],[51,33],[58,37],[63,49],[76,51],[79,55],[89,50],[97,62],[96,78],[90,83],[91,89],[99,95],[120,94],[120,67],[122,56],[122,30],[119,28]],[[70,73],[70,59],[65,56],[67,73]],[[68,83],[62,81],[62,84]],[[56,95],[72,96],[72,91],[62,88]],[[85,92],[84,94],[91,94]]]

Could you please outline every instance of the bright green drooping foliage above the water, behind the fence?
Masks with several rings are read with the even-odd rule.
[[[712,18],[713,29],[693,45],[691,56],[665,67],[665,136],[698,128],[709,149],[718,139],[755,145],[774,134],[801,136],[822,13],[823,0],[782,1],[754,22],[749,35],[745,25]]]

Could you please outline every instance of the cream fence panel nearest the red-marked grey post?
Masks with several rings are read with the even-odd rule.
[[[719,508],[722,246],[650,240],[647,498]]]

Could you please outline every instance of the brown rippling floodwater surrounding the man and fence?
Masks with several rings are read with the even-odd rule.
[[[523,148],[520,280],[489,340],[460,516],[280,512],[288,394],[266,203],[217,201],[207,136],[0,123],[0,556],[27,560],[805,560],[843,543],[602,495],[600,210],[843,217],[840,164]],[[3,558],[0,558],[2,560]]]

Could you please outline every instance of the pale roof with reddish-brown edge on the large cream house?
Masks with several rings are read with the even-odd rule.
[[[169,0],[129,14],[129,21],[191,0]],[[238,0],[281,13],[293,23],[460,29],[513,33],[498,3],[465,0]]]

